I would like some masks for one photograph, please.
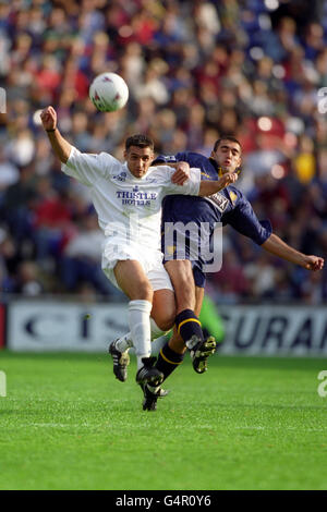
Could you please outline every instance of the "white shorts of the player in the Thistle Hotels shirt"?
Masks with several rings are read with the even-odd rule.
[[[108,244],[102,253],[101,268],[116,288],[121,290],[116,281],[113,269],[118,261],[126,259],[135,259],[142,265],[154,292],[164,289],[173,291],[170,277],[162,264],[162,253],[160,251],[149,252],[146,247],[133,247],[131,245],[118,247]]]

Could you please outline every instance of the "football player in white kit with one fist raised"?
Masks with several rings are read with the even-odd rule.
[[[169,166],[150,167],[154,143],[145,135],[126,139],[124,163],[107,153],[82,154],[60,134],[52,107],[43,110],[40,118],[62,171],[90,188],[105,233],[102,270],[130,298],[131,336],[109,349],[114,375],[125,380],[132,340],[136,382],[159,386],[164,375],[153,367],[150,341],[168,331],[175,317],[174,293],[160,252],[161,202],[170,194],[213,195],[238,176],[229,173],[218,181],[201,181],[198,169],[186,173]]]

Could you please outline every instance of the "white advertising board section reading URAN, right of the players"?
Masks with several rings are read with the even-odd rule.
[[[326,306],[221,306],[222,354],[327,357]]]

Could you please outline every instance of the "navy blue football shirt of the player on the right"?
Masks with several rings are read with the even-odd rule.
[[[181,151],[174,156],[159,155],[153,164],[179,161],[185,161],[190,167],[201,169],[202,180],[219,179],[216,161],[213,158],[206,158],[197,153]],[[272,231],[270,222],[268,220],[259,221],[250,202],[242,192],[233,185],[227,186],[210,197],[187,195],[171,195],[165,197],[161,219],[161,251],[165,254],[165,260],[173,258],[181,259],[175,253],[174,244],[172,244],[171,248],[171,239],[169,236],[170,228],[167,229],[167,227],[171,227],[178,222],[181,222],[184,227],[192,222],[193,225],[195,223],[198,229],[201,228],[202,230],[205,227],[207,233],[203,233],[202,231],[201,236],[202,240],[205,239],[209,241],[210,247],[213,246],[213,234],[217,222],[221,222],[222,225],[230,224],[239,233],[249,236],[258,245],[262,245],[270,236]],[[194,239],[196,239],[194,233],[187,232],[185,240],[185,257],[182,259],[192,260],[195,284],[203,288],[205,285],[204,266],[208,263],[208,259],[203,256],[199,247],[197,247],[197,257],[196,259],[194,258],[194,251],[192,253]],[[199,243],[199,237],[197,240],[198,242],[195,242],[196,244]]]

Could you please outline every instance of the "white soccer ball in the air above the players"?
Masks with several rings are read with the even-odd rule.
[[[90,84],[89,98],[101,112],[114,112],[126,105],[129,87],[116,73],[101,73]]]

